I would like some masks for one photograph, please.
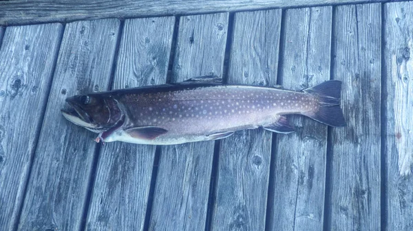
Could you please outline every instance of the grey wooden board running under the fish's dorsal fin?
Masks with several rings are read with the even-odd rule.
[[[180,17],[172,82],[222,76],[228,13]],[[214,142],[163,146],[149,230],[204,230]]]

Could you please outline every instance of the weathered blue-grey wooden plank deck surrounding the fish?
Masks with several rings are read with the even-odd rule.
[[[38,1],[38,17],[0,3],[1,231],[413,230],[413,1],[182,16],[178,1],[125,1],[89,17]],[[295,90],[341,80],[348,125],[292,116],[292,134],[100,145],[60,112],[72,95],[211,74]]]

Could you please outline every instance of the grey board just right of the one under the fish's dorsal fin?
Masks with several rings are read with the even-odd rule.
[[[277,84],[282,10],[236,13],[229,84]],[[235,132],[222,140],[212,230],[264,230],[271,132]]]

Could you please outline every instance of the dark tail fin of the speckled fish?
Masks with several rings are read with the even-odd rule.
[[[346,120],[340,108],[341,81],[329,80],[307,88],[304,92],[317,97],[318,106],[315,110],[302,114],[332,127],[346,126]]]

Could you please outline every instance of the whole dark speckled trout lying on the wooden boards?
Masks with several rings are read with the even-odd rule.
[[[304,90],[222,84],[194,77],[162,84],[74,95],[61,110],[72,123],[98,133],[96,142],[176,145],[226,138],[239,130],[295,131],[288,114],[332,127],[346,126],[340,106],[341,81]]]

